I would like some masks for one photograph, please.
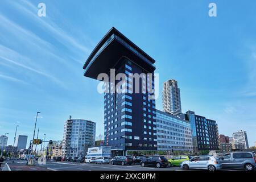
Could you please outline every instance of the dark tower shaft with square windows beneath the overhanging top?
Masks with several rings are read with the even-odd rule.
[[[130,74],[145,72],[125,58],[115,67],[116,74],[126,74],[121,93],[111,93],[114,84],[107,83],[109,93],[104,96],[104,134],[105,144],[112,146],[112,150],[156,150],[155,100],[148,99],[147,90],[142,91],[147,88],[147,82],[141,81],[141,92],[135,93],[135,83],[129,78]],[[118,82],[115,81],[115,85]]]

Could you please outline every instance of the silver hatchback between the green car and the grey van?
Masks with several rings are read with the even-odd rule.
[[[190,160],[184,161],[180,164],[182,169],[208,169],[209,171],[216,171],[221,169],[221,164],[214,156],[196,156]]]

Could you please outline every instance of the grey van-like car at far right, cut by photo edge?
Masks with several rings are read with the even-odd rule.
[[[252,171],[256,167],[256,155],[253,151],[229,152],[219,159],[222,168],[244,168]]]

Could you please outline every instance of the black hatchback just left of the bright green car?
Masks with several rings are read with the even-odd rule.
[[[142,159],[141,166],[167,167],[168,160],[164,156],[150,156]]]

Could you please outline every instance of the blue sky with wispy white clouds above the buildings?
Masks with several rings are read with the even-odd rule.
[[[38,4],[46,4],[46,17]],[[217,17],[208,5],[217,5]],[[104,98],[82,65],[114,26],[156,60],[160,90],[175,78],[183,112],[214,119],[219,133],[246,130],[256,141],[256,2],[0,1],[0,134],[63,138],[64,121],[97,122]],[[156,100],[162,110],[162,97]]]

